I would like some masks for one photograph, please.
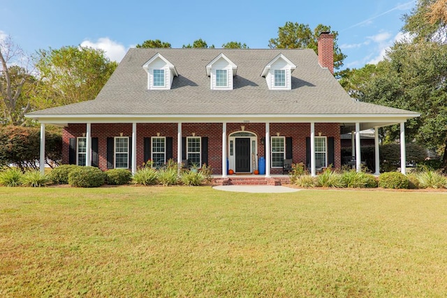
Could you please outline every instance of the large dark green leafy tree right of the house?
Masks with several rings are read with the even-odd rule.
[[[406,137],[443,155],[447,170],[447,45],[396,43],[360,87],[360,100],[420,112],[406,123]],[[386,135],[394,140],[397,126]]]

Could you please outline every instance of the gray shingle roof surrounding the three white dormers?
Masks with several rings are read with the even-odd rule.
[[[147,73],[142,69],[159,52],[172,63],[178,77],[170,90],[147,90]],[[223,53],[237,65],[234,89],[210,89],[205,66]],[[292,90],[269,90],[263,68],[279,53],[297,67],[292,73]],[[225,50],[225,49],[131,49],[95,100],[29,113],[29,117],[50,115],[170,115],[170,114],[414,114],[391,107],[353,100],[330,74],[321,68],[309,49]]]

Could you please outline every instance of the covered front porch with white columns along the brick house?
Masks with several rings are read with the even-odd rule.
[[[68,122],[66,122],[69,120]],[[157,156],[164,156],[163,161],[173,158],[179,167],[184,164],[185,159],[190,161],[196,158],[201,164],[207,161],[207,165],[214,168],[213,174],[221,178],[228,177],[228,170],[236,174],[251,174],[259,170],[260,158],[265,161],[265,173],[256,175],[256,179],[277,177],[282,174],[282,162],[291,158],[293,163],[304,163],[312,176],[316,176],[318,167],[333,165],[341,166],[340,157],[340,134],[344,131],[353,131],[355,137],[356,170],[360,171],[360,130],[374,127],[376,130],[376,174],[379,174],[379,135],[377,128],[384,125],[399,123],[401,127],[401,163],[406,164],[404,121],[405,117],[393,119],[394,121],[383,121],[383,119],[363,119],[362,122],[349,122],[352,119],[303,119],[284,117],[270,118],[270,121],[260,121],[259,118],[236,118],[222,119],[40,119],[41,121],[41,170],[45,161],[45,124],[56,124],[64,126],[64,151],[68,151],[70,138],[83,137],[85,144],[85,163],[83,165],[96,165],[102,170],[117,167],[117,149],[107,147],[110,138],[127,138],[126,168],[135,173],[142,163],[149,158],[154,158],[154,144],[146,146],[146,142],[152,142],[157,138],[164,140],[165,148]],[[200,120],[200,121],[198,121]],[[332,120],[332,121],[331,121]],[[398,121],[396,121],[398,120]],[[191,145],[193,140],[200,140],[205,147],[197,147],[196,151]],[[149,140],[149,141],[148,141]],[[191,144],[189,143],[191,140]],[[170,144],[172,147],[166,147]],[[96,152],[92,150],[96,146]],[[79,154],[79,148],[75,148]],[[206,152],[205,152],[206,151]],[[332,153],[331,153],[332,152]],[[110,165],[108,155],[115,156],[115,163]],[[206,158],[204,157],[206,154]],[[332,155],[331,155],[332,154]],[[195,156],[195,157],[194,157]],[[200,156],[202,156],[200,158]],[[95,158],[97,158],[95,160]],[[68,158],[66,158],[68,161]],[[107,166],[105,166],[107,165]],[[401,167],[405,173],[405,166]],[[230,181],[243,181],[242,178]],[[237,177],[237,176],[236,176]],[[245,177],[248,182],[256,179]],[[281,179],[280,179],[281,180]],[[247,182],[247,183],[248,183]],[[233,182],[232,182],[233,183]],[[237,182],[234,182],[237,183]],[[271,182],[274,183],[274,182]]]

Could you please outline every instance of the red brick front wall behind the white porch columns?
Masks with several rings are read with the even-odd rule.
[[[265,124],[227,124],[227,137],[235,131],[245,131],[258,135],[259,140],[265,137]],[[71,137],[81,137],[85,133],[85,124],[69,124],[63,132],[63,163],[68,163],[68,147]],[[315,132],[321,135],[334,137],[335,140],[335,167],[341,166],[340,157],[340,131],[339,124],[315,124]],[[125,137],[131,137],[132,124],[91,124],[91,137],[98,137],[98,159],[101,170],[107,169],[107,137],[117,137],[123,133]],[[156,136],[160,133],[163,137],[173,137],[173,158],[177,160],[177,124],[137,124],[137,166],[144,162],[144,137]],[[182,124],[182,136],[191,136],[195,133],[199,137],[208,137],[208,162],[213,168],[214,174],[221,174],[222,170],[222,124],[196,123]],[[270,124],[270,135],[292,137],[293,162],[306,163],[306,137],[310,135],[310,124]],[[228,155],[228,153],[227,153]],[[258,157],[264,156],[264,145],[258,142]],[[281,169],[272,169],[272,174],[282,173]]]

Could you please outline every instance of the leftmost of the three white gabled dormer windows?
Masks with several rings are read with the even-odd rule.
[[[147,72],[147,89],[168,90],[178,73],[175,66],[157,53],[142,68]]]

